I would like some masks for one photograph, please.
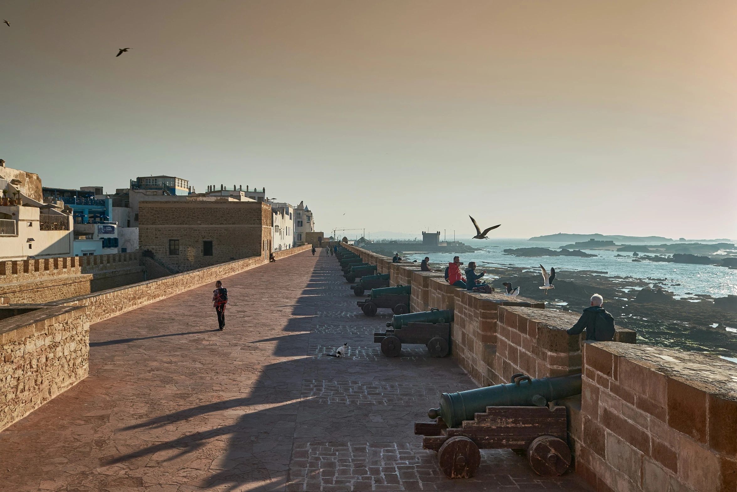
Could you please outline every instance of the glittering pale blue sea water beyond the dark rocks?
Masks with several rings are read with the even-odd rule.
[[[674,297],[691,299],[694,294],[708,294],[711,297],[725,297],[729,294],[737,295],[737,270],[730,270],[724,266],[691,265],[688,263],[665,263],[642,260],[632,261],[635,257],[632,252],[615,252],[606,250],[581,251],[596,254],[596,257],[581,258],[573,256],[556,257],[516,257],[505,254],[504,249],[517,248],[549,248],[559,251],[561,246],[569,243],[553,243],[529,241],[526,239],[471,239],[464,240],[468,246],[482,248],[473,253],[458,254],[461,261],[468,264],[475,261],[479,266],[517,266],[530,268],[531,274],[539,275],[540,264],[550,271],[555,267],[556,278],[565,279],[565,271],[593,270],[606,277],[635,277],[645,280],[650,285],[661,285],[674,293]],[[391,248],[391,246],[388,246]],[[396,246],[395,246],[396,247]],[[402,245],[409,250],[411,246]],[[617,257],[621,254],[621,257]],[[657,252],[649,253],[657,254]],[[422,261],[430,257],[430,263],[450,263],[455,253],[417,253],[407,254],[405,259]],[[606,272],[606,273],[603,273]],[[542,277],[540,277],[542,283]],[[680,284],[680,285],[679,285]],[[622,284],[626,290],[626,281]],[[638,288],[639,289],[639,288]]]

